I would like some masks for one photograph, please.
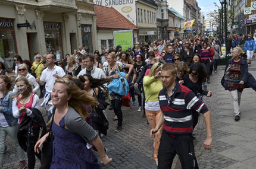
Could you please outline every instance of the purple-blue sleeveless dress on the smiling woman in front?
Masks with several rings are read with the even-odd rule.
[[[98,158],[92,150],[86,148],[83,138],[64,128],[64,118],[60,120],[60,126],[52,123],[54,142],[51,168],[100,168]]]

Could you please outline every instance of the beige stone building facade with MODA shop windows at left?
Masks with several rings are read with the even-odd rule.
[[[77,46],[88,52],[98,46],[92,2],[7,0],[0,8],[0,53],[10,67],[15,53],[33,61],[35,52],[52,50],[57,59],[64,59]]]

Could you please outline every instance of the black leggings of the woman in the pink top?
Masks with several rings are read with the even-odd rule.
[[[41,154],[35,153],[34,147],[36,145],[36,142],[38,141],[39,137],[39,132],[40,132],[40,127],[35,127],[33,128],[33,136],[30,136],[30,144],[27,146],[27,160],[28,160],[28,168],[29,169],[34,169],[35,164],[36,164],[36,157],[41,159]],[[35,157],[36,155],[36,157]]]

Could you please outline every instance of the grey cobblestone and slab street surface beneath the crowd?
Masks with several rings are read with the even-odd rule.
[[[255,61],[249,72],[256,77]],[[211,98],[204,97],[208,109],[212,113],[213,145],[211,150],[204,149],[206,138],[204,119],[199,117],[195,133],[195,152],[199,168],[256,168],[256,113],[255,91],[245,89],[241,100],[241,120],[235,122],[233,103],[229,91],[224,91],[220,84],[223,66],[211,76],[208,90],[213,91]],[[115,133],[117,122],[113,121],[114,111],[107,110],[110,128],[108,135],[102,138],[108,156],[113,161],[102,168],[157,168],[154,161],[153,139],[149,138],[150,127],[142,111],[137,106],[132,109],[122,107],[123,130]],[[7,137],[9,150],[4,155],[3,168],[17,168],[18,161],[10,138]],[[99,160],[100,161],[100,160]],[[36,168],[39,168],[37,161]],[[181,168],[177,157],[172,168]]]

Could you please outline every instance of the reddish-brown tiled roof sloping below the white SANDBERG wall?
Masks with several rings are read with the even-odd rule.
[[[94,12],[97,15],[96,25],[99,29],[111,28],[115,30],[138,30],[126,17],[121,15],[113,7],[94,5]]]

